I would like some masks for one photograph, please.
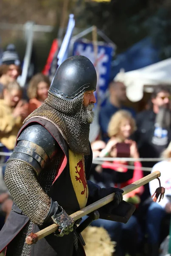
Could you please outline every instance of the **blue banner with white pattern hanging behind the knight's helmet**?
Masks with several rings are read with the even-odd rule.
[[[101,104],[106,99],[106,91],[109,85],[111,61],[114,48],[108,44],[98,45],[98,54],[95,56],[94,47],[92,43],[85,43],[83,41],[76,41],[73,46],[73,55],[83,55],[90,59],[94,64],[98,74],[98,97]]]

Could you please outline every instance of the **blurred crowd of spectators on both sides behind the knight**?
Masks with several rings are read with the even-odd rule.
[[[41,106],[48,96],[50,81],[37,73],[26,88],[20,87],[20,59],[14,45],[3,52],[0,66],[0,152],[14,149],[22,122]],[[136,113],[125,105],[126,87],[122,82],[109,84],[109,98],[99,112],[101,128],[97,140],[91,143],[93,158],[106,157],[101,164],[93,163],[90,179],[101,187],[123,188],[151,172],[161,172],[165,187],[164,199],[154,203],[151,195],[159,186],[154,180],[124,196],[135,204],[136,211],[126,224],[98,219],[92,225],[103,226],[117,242],[116,256],[159,255],[161,242],[169,233],[171,215],[171,89],[167,84],[155,86],[146,109]],[[12,198],[3,177],[9,154],[0,156],[0,228],[12,205]],[[131,161],[107,157],[133,158]],[[157,161],[163,157],[165,160]],[[139,161],[139,158],[151,158]],[[153,160],[155,158],[155,160]],[[139,254],[138,254],[139,253]]]

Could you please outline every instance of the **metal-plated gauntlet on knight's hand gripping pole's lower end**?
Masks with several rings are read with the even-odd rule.
[[[56,223],[59,227],[55,232],[55,236],[64,236],[73,231],[74,220],[70,218],[67,212],[57,202],[51,199],[50,209],[44,223]]]

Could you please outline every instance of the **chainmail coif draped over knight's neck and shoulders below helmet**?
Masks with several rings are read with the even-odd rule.
[[[82,121],[84,93],[67,100],[51,92],[45,103],[31,113],[24,121],[41,116],[52,122],[61,132],[70,149],[78,154],[89,155],[90,124]]]

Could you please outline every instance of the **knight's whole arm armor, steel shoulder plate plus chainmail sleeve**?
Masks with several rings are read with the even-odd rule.
[[[58,204],[48,197],[35,174],[53,159],[59,150],[58,143],[41,125],[25,128],[17,141],[7,162],[5,182],[23,213],[35,224],[42,225],[58,211]]]

